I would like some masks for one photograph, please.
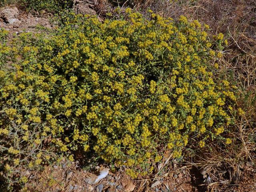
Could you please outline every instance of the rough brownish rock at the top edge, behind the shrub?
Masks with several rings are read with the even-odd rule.
[[[92,9],[93,5],[82,0],[74,0],[73,10],[76,14],[96,15],[96,11]]]

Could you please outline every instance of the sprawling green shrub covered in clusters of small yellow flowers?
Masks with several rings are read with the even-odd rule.
[[[103,23],[71,14],[50,35],[23,33],[10,45],[0,31],[6,173],[36,168],[53,152],[74,160],[82,149],[136,177],[133,168],[160,161],[160,150],[179,158],[192,136],[199,147],[226,142],[236,87],[214,77],[223,35],[208,38],[207,25],[184,16],[126,12]]]

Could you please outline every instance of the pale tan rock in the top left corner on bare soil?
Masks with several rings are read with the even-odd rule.
[[[0,18],[4,20],[7,24],[14,24],[19,22],[18,20],[19,10],[16,7],[6,7],[3,10],[0,10]]]

